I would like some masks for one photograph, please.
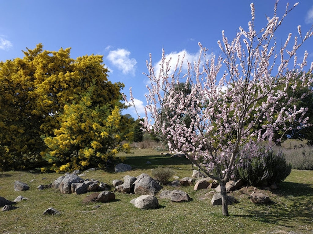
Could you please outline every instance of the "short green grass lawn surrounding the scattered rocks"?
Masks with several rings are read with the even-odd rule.
[[[93,178],[108,184],[125,175],[151,175],[151,169],[167,166],[175,169],[179,178],[191,177],[192,165],[182,158],[160,155],[151,149],[136,149],[126,156],[125,163],[134,170],[125,173],[107,173],[102,170],[86,172],[83,178]],[[146,164],[150,161],[151,164]],[[173,203],[159,199],[155,210],[140,210],[130,203],[137,195],[115,193],[110,203],[83,204],[87,194],[61,194],[52,188],[37,190],[40,184],[49,184],[60,174],[30,172],[0,172],[0,196],[13,201],[19,195],[28,201],[19,202],[19,208],[0,212],[0,233],[313,233],[313,171],[292,170],[290,176],[269,195],[270,205],[255,205],[249,194],[259,191],[243,188],[232,192],[239,203],[229,206],[229,217],[221,215],[220,206],[211,206],[213,195],[209,190],[194,191],[182,187],[192,198],[190,202]],[[14,181],[28,183],[28,191],[14,192]],[[33,182],[30,182],[32,181]],[[164,186],[163,189],[174,189]],[[49,207],[61,212],[59,216],[44,216]]]

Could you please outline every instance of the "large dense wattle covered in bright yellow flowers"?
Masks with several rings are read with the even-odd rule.
[[[100,55],[38,44],[0,63],[0,166],[56,171],[105,167],[120,145],[122,83],[107,79]]]

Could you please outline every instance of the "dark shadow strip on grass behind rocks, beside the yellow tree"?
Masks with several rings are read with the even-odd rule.
[[[151,164],[147,164],[147,162]],[[191,162],[187,158],[172,158],[167,155],[131,156],[126,157],[123,163],[138,169],[151,169],[169,165],[191,165]]]

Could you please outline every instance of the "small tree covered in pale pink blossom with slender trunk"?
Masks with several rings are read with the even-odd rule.
[[[291,33],[281,48],[275,41],[275,31],[296,5],[289,9],[287,4],[285,14],[279,18],[276,2],[273,17],[267,17],[266,26],[257,32],[252,3],[248,30],[239,27],[232,41],[222,31],[219,56],[207,54],[208,50],[199,43],[198,61],[188,62],[186,73],[182,72],[184,58],[178,58],[176,67],[171,68],[164,50],[159,71],[152,65],[151,55],[147,61],[146,75],[151,82],[147,86],[145,128],[154,129],[168,140],[170,150],[183,152],[219,182],[225,216],[225,184],[238,163],[264,153],[259,150],[260,143],[268,143],[269,150],[275,144],[275,130],[306,124],[307,119],[301,117],[305,108],[286,108],[296,101],[295,95],[287,95],[287,89],[291,85],[295,91],[297,82],[301,82],[312,90],[313,62],[305,71],[308,52],[300,62],[296,55],[313,35],[312,27],[303,36],[298,26],[299,35],[294,37],[293,45]],[[190,90],[177,89],[181,83]],[[189,116],[191,123],[186,125],[182,116]]]

